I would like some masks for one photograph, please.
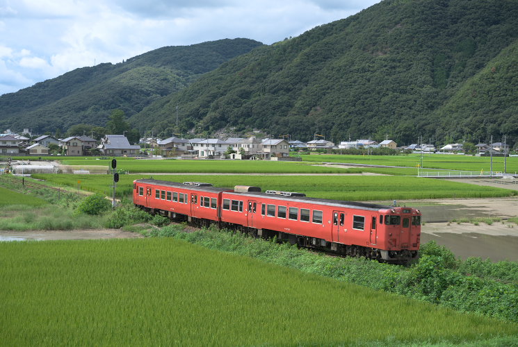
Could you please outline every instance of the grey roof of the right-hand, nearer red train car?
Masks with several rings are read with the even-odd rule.
[[[284,196],[284,195],[275,195],[275,194],[266,194],[261,192],[247,192],[247,193],[238,193],[238,192],[229,192],[229,194],[239,194],[241,196],[250,196],[251,198],[271,198],[273,200],[282,200],[282,201],[294,201],[299,203],[314,203],[316,205],[326,205],[326,206],[336,206],[337,208],[359,208],[361,210],[380,210],[380,209],[390,209],[394,208],[389,205],[380,205],[376,203],[360,203],[357,201],[341,201],[341,200],[332,200],[329,198],[310,198],[308,196]]]

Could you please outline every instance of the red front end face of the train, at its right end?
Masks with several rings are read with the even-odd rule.
[[[380,209],[378,248],[382,260],[405,264],[419,257],[421,212],[415,208]]]

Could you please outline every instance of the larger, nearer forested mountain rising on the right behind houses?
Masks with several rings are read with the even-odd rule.
[[[516,141],[517,35],[517,0],[385,0],[230,60],[130,121],[334,142]]]

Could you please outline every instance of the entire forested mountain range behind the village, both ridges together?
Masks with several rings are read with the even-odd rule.
[[[76,69],[0,96],[0,128],[104,126],[120,108],[161,136],[518,142],[517,40],[518,0],[384,0],[270,46],[222,40]]]

